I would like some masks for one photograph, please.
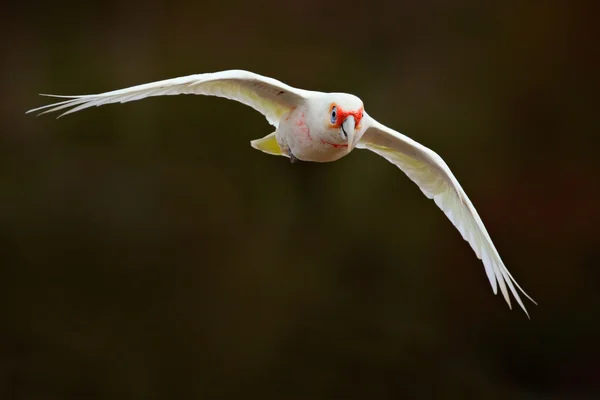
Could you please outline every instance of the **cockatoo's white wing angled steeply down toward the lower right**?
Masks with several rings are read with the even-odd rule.
[[[479,214],[444,160],[434,151],[372,118],[369,118],[367,126],[356,147],[369,149],[395,164],[419,186],[425,196],[433,199],[469,242],[477,257],[483,261],[494,294],[498,292],[500,285],[504,299],[510,307],[510,297],[506,288],[508,286],[529,316],[515,286],[529,300],[534,303],[535,301],[521,289],[504,266]]]

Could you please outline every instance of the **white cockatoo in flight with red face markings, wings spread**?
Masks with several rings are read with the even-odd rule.
[[[368,149],[384,157],[404,171],[425,196],[433,199],[469,242],[477,257],[483,260],[494,294],[500,286],[510,307],[510,290],[529,316],[519,291],[535,301],[521,289],[504,266],[475,207],[444,160],[434,151],[371,118],[365,112],[363,102],[354,95],[297,89],[252,72],[230,70],[183,76],[100,94],[44,95],[66,100],[28,113],[44,110],[41,113],[44,114],[72,107],[62,116],[103,104],[176,94],[225,97],[254,108],[275,127],[275,132],[253,140],[250,142],[252,147],[268,154],[289,157],[292,162],[335,161],[354,148]]]

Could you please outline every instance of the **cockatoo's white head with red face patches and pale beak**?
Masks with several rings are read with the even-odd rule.
[[[346,93],[329,93],[319,104],[319,119],[325,128],[326,143],[345,147],[350,152],[362,130],[363,102]]]

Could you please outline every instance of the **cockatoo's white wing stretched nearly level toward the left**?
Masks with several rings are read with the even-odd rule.
[[[125,103],[151,96],[175,94],[202,94],[237,100],[262,113],[271,125],[277,126],[281,116],[296,107],[310,91],[297,89],[276,79],[248,71],[230,70],[206,74],[182,76],[144,85],[132,86],[100,94],[81,96],[57,96],[64,100],[27,111],[41,111],[40,114],[68,109],[62,115],[85,108],[110,103]],[[59,117],[60,117],[59,116]]]

